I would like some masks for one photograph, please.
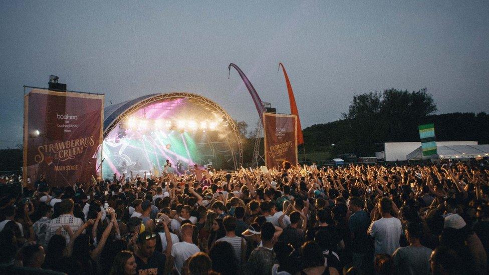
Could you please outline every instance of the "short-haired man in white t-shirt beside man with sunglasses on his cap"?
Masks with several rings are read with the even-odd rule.
[[[175,259],[174,267],[179,274],[181,273],[185,260],[191,255],[200,252],[198,246],[192,242],[193,225],[188,223],[183,224],[180,228],[180,232],[182,235],[182,241],[173,244],[171,247],[171,255]]]

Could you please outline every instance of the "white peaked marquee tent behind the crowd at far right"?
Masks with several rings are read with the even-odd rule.
[[[476,158],[489,157],[489,144],[480,145],[438,145],[436,146],[440,158]],[[406,156],[408,160],[438,158],[437,156],[423,156],[421,146]]]

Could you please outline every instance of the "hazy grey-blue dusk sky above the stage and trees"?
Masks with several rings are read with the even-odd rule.
[[[303,128],[339,119],[355,94],[433,95],[438,114],[489,112],[489,1],[1,1],[0,148],[22,142],[23,85],[205,96],[235,120],[258,114],[234,63],[263,101]]]

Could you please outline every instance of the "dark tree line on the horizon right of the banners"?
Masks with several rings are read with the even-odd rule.
[[[435,114],[437,108],[426,88],[418,91],[388,89],[355,95],[342,119],[303,130],[307,152],[374,156],[384,142],[419,141],[418,125],[434,123],[438,141],[476,140],[489,143],[489,115]],[[334,146],[333,146],[334,144]]]

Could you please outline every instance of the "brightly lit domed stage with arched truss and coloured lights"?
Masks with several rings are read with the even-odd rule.
[[[144,171],[162,174],[169,159],[175,172],[197,163],[237,169],[242,144],[234,120],[218,104],[184,92],[152,94],[104,110],[103,177]],[[148,175],[149,176],[149,175]]]

